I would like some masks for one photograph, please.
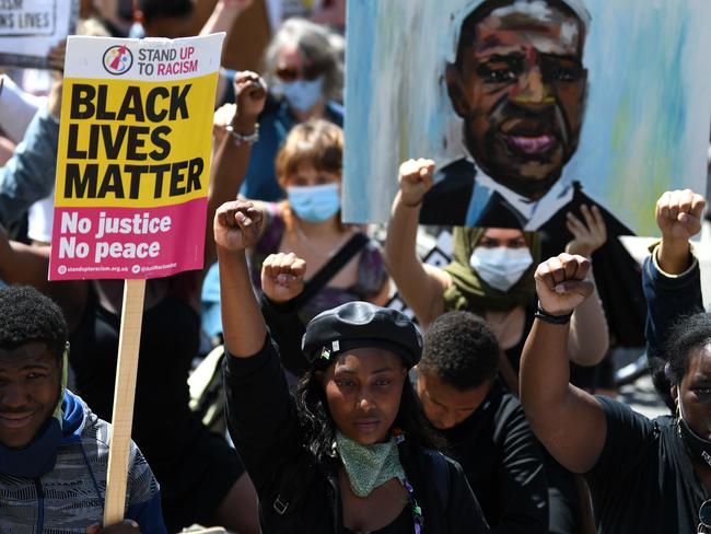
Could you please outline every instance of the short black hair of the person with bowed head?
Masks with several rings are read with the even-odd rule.
[[[424,333],[419,369],[459,391],[480,386],[499,371],[499,343],[487,322],[469,312],[440,315]]]

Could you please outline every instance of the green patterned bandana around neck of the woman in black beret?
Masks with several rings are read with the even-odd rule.
[[[361,445],[337,430],[336,448],[350,487],[358,497],[368,497],[392,478],[405,480],[395,437],[385,443]]]

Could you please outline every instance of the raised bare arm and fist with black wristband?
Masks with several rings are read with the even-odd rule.
[[[590,262],[561,254],[536,270],[544,311],[562,316],[593,291],[585,281]],[[531,426],[550,454],[573,473],[586,473],[605,445],[607,420],[592,395],[570,384],[569,325],[536,318],[521,358],[521,403]]]

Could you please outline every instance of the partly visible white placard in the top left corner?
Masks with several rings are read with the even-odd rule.
[[[0,65],[46,67],[78,16],[79,0],[0,0]]]

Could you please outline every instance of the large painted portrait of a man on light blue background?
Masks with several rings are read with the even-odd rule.
[[[583,205],[656,233],[706,191],[708,0],[349,2],[343,220],[387,220],[397,170],[436,162],[427,224],[557,232]]]

